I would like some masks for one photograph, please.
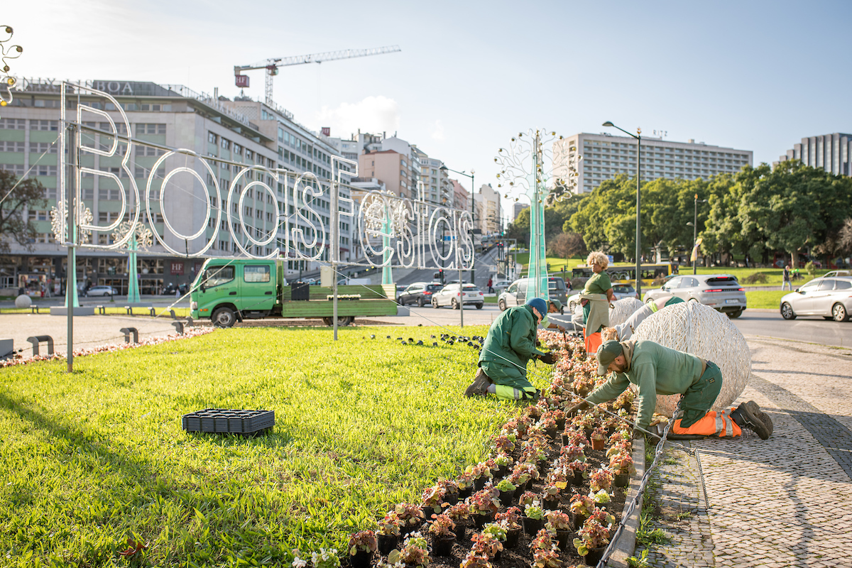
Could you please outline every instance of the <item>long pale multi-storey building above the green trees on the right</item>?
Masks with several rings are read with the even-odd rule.
[[[576,150],[572,151],[572,148]],[[616,175],[636,176],[636,139],[629,136],[580,133],[566,136],[553,145],[554,175],[566,175],[567,160],[579,152],[579,173],[575,192],[591,192],[604,180]],[[717,174],[733,174],[752,165],[751,150],[710,146],[704,142],[667,141],[642,137],[642,181],[708,179]]]

